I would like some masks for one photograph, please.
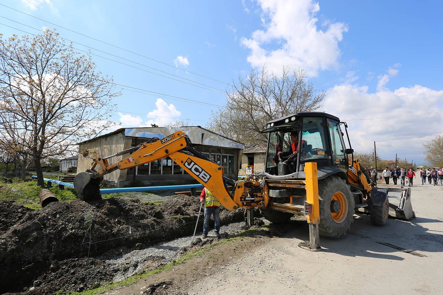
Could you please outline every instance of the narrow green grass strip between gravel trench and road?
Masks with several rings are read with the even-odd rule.
[[[228,242],[232,242],[237,240],[238,238],[244,238],[244,237],[253,237],[255,236],[259,230],[262,230],[264,228],[267,228],[268,226],[262,226],[260,228],[257,229],[253,229],[253,230],[243,230],[240,233],[236,234],[234,237],[231,238],[227,238],[227,239],[222,239],[220,241],[217,241],[215,243],[212,243],[210,245],[207,245],[206,247],[204,247],[203,249],[194,251],[194,252],[189,252],[184,254],[182,257],[180,257],[177,261],[172,261],[166,265],[163,265],[159,268],[156,268],[154,270],[151,271],[141,271],[138,274],[129,277],[126,280],[121,280],[118,282],[114,282],[114,283],[110,283],[110,284],[105,284],[102,285],[100,287],[91,289],[91,290],[86,290],[86,291],[82,291],[82,292],[73,292],[73,293],[69,293],[69,295],[98,295],[98,294],[103,294],[105,291],[117,288],[117,287],[126,287],[132,284],[135,284],[138,280],[140,279],[146,279],[152,275],[155,275],[157,273],[160,272],[164,272],[164,271],[168,271],[170,269],[172,269],[174,266],[179,265],[179,264],[183,264],[186,261],[190,260],[191,258],[197,256],[197,255],[203,255],[206,251],[212,249],[213,247],[217,246],[217,245],[222,245]],[[68,294],[63,290],[60,290],[56,293],[57,295],[64,295],[64,294]]]

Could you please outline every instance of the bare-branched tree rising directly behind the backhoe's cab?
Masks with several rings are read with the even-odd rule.
[[[266,122],[315,111],[322,106],[326,92],[317,92],[302,69],[290,73],[286,67],[278,77],[264,66],[260,73],[252,70],[245,79],[239,76],[238,83],[234,82],[226,94],[225,108],[213,112],[208,128],[253,145],[267,141],[267,135],[260,133]]]

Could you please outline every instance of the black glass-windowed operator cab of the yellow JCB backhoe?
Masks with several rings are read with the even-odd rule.
[[[268,176],[298,178],[305,162],[347,172],[347,153],[352,150],[345,147],[340,125],[340,119],[323,112],[295,113],[269,121],[262,131],[268,133],[265,172]]]

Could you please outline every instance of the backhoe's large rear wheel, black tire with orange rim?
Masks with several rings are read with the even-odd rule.
[[[343,206],[338,206],[338,201]],[[354,207],[354,196],[345,180],[337,176],[319,180],[319,234],[321,236],[340,238],[345,235],[346,231],[350,230],[351,223],[354,222]]]

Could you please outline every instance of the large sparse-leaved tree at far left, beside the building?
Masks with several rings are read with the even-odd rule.
[[[0,130],[16,129],[16,143],[34,161],[41,186],[43,159],[74,150],[111,124],[111,98],[120,93],[95,68],[90,56],[54,31],[0,35]]]

